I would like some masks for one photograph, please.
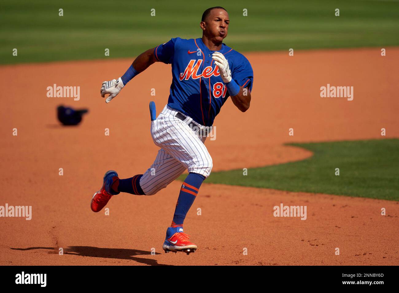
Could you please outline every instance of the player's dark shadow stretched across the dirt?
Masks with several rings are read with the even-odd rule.
[[[53,253],[58,254],[58,249],[53,247],[28,247],[28,248],[10,248],[12,250],[33,250],[33,249],[47,249]],[[51,252],[50,252],[51,253]],[[93,246],[69,246],[64,249],[64,254],[71,254],[75,256],[90,256],[93,258],[111,258],[117,260],[134,260],[135,262],[147,265],[161,265],[157,260],[150,258],[136,258],[135,256],[151,255],[151,252],[137,249],[126,248],[99,248]],[[160,254],[160,253],[155,253]]]

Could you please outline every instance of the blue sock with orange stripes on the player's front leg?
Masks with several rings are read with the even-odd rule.
[[[189,173],[187,175],[186,180],[184,180],[182,188],[180,189],[171,227],[183,226],[184,218],[186,218],[188,210],[194,203],[199,187],[201,187],[204,180],[204,176],[196,173]]]

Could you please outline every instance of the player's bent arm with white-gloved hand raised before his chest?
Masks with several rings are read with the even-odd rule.
[[[213,53],[212,59],[219,67],[221,78],[229,91],[233,104],[239,108],[241,112],[247,111],[251,102],[251,92],[249,91],[249,88],[239,86],[234,79],[231,78],[229,63],[222,53]]]

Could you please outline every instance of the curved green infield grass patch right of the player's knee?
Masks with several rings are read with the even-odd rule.
[[[399,201],[398,139],[290,145],[314,155],[303,161],[248,169],[247,176],[242,169],[212,172],[205,182]]]

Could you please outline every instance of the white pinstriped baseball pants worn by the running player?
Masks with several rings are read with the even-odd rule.
[[[140,187],[146,195],[165,188],[186,169],[205,178],[211,173],[212,158],[203,144],[206,137],[199,137],[187,123],[201,125],[190,117],[184,121],[174,117],[177,113],[166,105],[156,120],[151,121],[152,140],[161,149],[140,179]]]

